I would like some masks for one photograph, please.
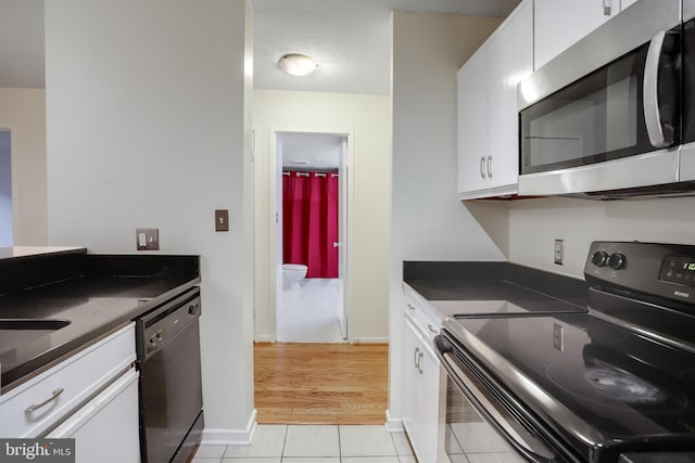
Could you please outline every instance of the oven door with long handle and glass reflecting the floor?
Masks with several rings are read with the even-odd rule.
[[[560,456],[533,427],[535,419],[503,390],[491,389],[490,377],[445,335],[434,346],[446,370],[444,440],[451,463],[481,453],[504,462],[580,461]]]

